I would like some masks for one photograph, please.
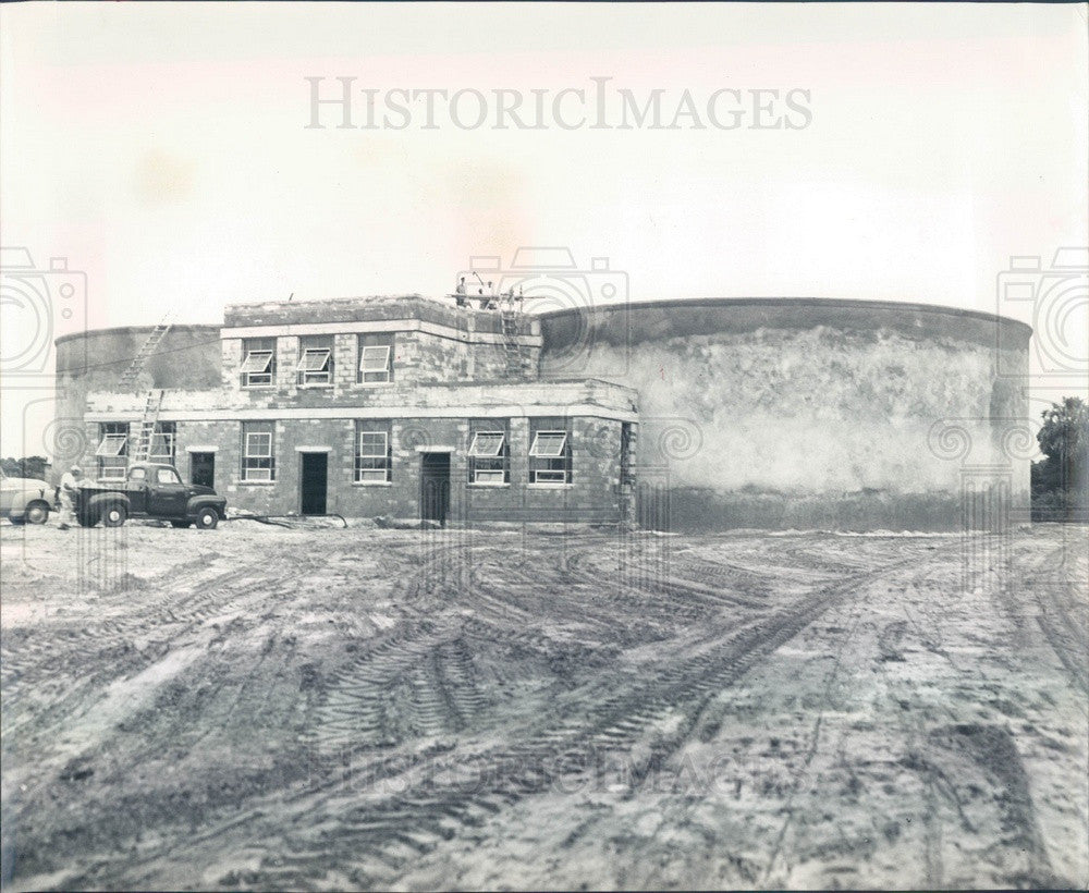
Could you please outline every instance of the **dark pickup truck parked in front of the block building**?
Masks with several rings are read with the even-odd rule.
[[[211,530],[227,511],[227,499],[216,496],[211,487],[182,484],[174,466],[156,462],[133,463],[118,486],[99,481],[79,487],[74,503],[84,527],[99,521],[106,527],[120,527],[125,518],[147,517],[169,521],[174,527],[196,524],[198,529]]]

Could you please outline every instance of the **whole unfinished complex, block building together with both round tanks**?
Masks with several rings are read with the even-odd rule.
[[[106,479],[168,460],[274,515],[951,528],[966,461],[946,429],[989,469],[971,486],[1028,504],[1007,448],[1030,334],[831,299],[241,304],[222,327],[60,339],[54,452]]]

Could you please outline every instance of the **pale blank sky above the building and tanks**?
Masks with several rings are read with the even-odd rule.
[[[1089,244],[1086,9],[4,4],[2,240],[85,271],[90,328],[171,307],[216,322],[292,292],[441,294],[469,256],[519,245],[608,257],[632,299],[914,301],[1031,322],[999,306],[1010,256]],[[812,123],[305,130],[307,76],[800,87]],[[48,406],[13,381],[0,452],[40,452]]]

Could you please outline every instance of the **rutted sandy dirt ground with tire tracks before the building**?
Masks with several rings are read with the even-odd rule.
[[[1086,535],[5,524],[5,886],[1084,889]]]

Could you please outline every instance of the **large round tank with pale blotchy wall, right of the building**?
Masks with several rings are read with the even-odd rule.
[[[638,390],[639,486],[659,504],[668,493],[674,529],[1027,518],[1024,323],[914,304],[714,298],[558,310],[541,334],[542,376]]]

